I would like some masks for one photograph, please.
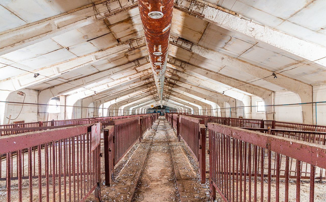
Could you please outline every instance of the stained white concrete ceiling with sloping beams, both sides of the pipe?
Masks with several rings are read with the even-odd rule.
[[[325,1],[194,5],[175,2],[165,94],[192,85],[239,99],[326,83]],[[110,89],[153,82],[137,1],[0,0],[0,44],[1,89],[110,97]]]

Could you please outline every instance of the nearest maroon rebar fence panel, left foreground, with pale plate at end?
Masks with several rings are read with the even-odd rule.
[[[1,201],[100,200],[100,123],[0,137]],[[4,183],[6,181],[6,184]]]

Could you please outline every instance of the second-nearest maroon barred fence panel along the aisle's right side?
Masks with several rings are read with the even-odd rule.
[[[199,162],[201,183],[206,182],[206,127],[202,119],[180,115],[179,140],[182,138]]]

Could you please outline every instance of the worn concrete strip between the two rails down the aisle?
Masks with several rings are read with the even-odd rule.
[[[166,123],[159,119],[154,134],[146,136],[143,140],[151,142],[150,151],[137,183],[133,201],[178,201],[179,193]]]

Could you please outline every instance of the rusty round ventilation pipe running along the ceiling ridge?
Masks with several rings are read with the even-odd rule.
[[[173,0],[138,0],[149,60],[161,107],[172,22]]]

